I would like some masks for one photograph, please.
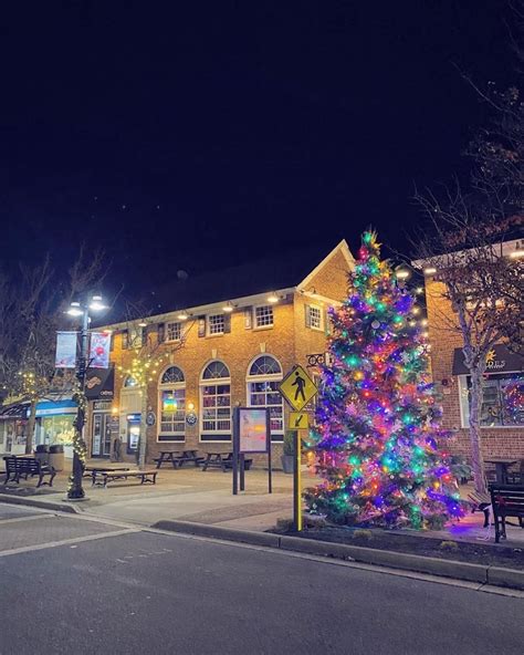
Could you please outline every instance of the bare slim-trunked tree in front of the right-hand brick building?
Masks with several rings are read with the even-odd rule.
[[[481,447],[482,376],[495,343],[522,349],[524,262],[512,258],[506,229],[517,222],[480,223],[460,193],[443,207],[431,194],[418,196],[432,229],[419,241],[421,268],[434,269],[443,283],[441,295],[452,308],[440,313],[441,326],[458,334],[471,375],[470,441],[475,488],[485,492]]]

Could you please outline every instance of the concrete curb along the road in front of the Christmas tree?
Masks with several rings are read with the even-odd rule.
[[[524,571],[514,569],[503,569],[485,564],[470,564],[468,562],[457,562],[454,560],[440,560],[438,558],[426,558],[422,555],[396,551],[302,539],[301,537],[273,534],[271,532],[253,532],[249,530],[237,530],[234,528],[221,528],[220,526],[212,524],[190,523],[189,521],[158,521],[157,523],[154,523],[151,528],[170,532],[181,532],[185,534],[223,539],[224,541],[265,545],[280,550],[289,550],[339,560],[352,560],[365,564],[401,569],[404,571],[429,573],[442,578],[454,578],[457,580],[478,582],[479,584],[509,586],[524,591]]]

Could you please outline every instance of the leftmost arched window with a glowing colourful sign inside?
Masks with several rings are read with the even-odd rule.
[[[186,378],[181,368],[169,366],[160,375],[158,384],[160,414],[159,441],[186,439]]]

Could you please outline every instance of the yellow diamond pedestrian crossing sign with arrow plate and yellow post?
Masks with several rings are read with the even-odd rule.
[[[302,437],[307,429],[307,413],[302,412],[317,394],[313,380],[302,366],[294,366],[280,384],[280,393],[293,408],[290,412],[290,429],[295,432],[295,462],[293,467],[293,522],[297,532],[302,530]]]

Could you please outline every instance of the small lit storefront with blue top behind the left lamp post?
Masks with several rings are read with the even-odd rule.
[[[36,404],[35,446],[64,447],[64,456],[73,457],[73,437],[77,407],[71,399],[41,401]]]

